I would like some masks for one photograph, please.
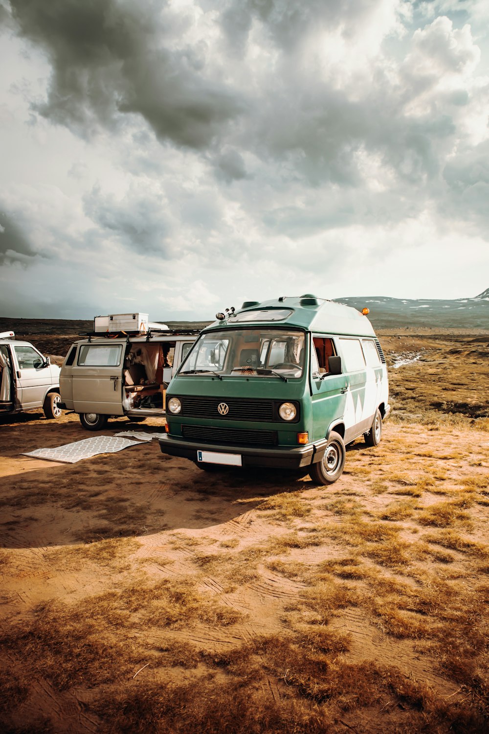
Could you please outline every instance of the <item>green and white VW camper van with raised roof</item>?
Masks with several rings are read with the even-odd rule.
[[[306,294],[247,301],[217,319],[167,390],[163,454],[205,470],[307,468],[333,484],[346,444],[364,435],[378,445],[389,385],[366,316]]]

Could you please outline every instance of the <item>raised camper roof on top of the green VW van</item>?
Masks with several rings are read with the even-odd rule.
[[[224,314],[218,314],[224,316]],[[223,327],[295,326],[308,331],[349,336],[375,336],[372,324],[356,308],[312,294],[281,296],[271,301],[245,301],[235,313],[210,324],[204,331]]]

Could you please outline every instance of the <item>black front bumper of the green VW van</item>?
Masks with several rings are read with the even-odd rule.
[[[259,448],[257,446],[229,446],[212,443],[196,443],[170,435],[159,439],[161,453],[173,457],[185,457],[197,461],[197,451],[217,451],[220,454],[240,454],[243,467],[268,466],[283,469],[300,469],[310,466],[323,457],[327,441],[308,443],[306,446]]]

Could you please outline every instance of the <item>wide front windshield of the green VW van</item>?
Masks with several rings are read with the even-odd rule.
[[[179,374],[294,379],[303,371],[304,332],[260,328],[202,334]]]

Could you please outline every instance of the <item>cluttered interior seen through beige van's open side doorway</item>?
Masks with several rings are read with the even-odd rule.
[[[175,344],[130,344],[125,355],[124,407],[126,410],[165,410],[165,393],[172,379]]]

